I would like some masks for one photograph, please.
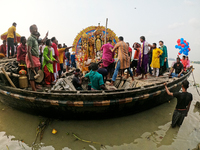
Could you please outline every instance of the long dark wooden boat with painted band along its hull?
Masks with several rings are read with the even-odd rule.
[[[2,60],[0,64],[7,61]],[[0,101],[27,113],[54,118],[99,119],[123,116],[170,101],[172,97],[166,94],[163,83],[168,83],[170,91],[178,92],[181,89],[181,83],[189,77],[191,72],[192,69],[184,76],[173,79],[166,77],[136,79],[134,87],[108,91],[33,92],[1,83]],[[137,82],[138,86],[136,86]]]

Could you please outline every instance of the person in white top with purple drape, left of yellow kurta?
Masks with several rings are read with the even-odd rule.
[[[142,45],[138,60],[137,74],[138,75],[142,74],[142,77],[140,79],[144,79],[144,76],[145,78],[147,78],[147,64],[149,60],[148,52],[149,52],[149,47],[152,47],[152,45],[146,42],[144,36],[140,37],[140,42],[142,43]]]

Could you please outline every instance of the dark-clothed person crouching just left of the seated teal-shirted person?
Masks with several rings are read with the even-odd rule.
[[[80,69],[76,69],[76,71],[74,71],[74,77],[72,79],[72,83],[74,85],[74,87],[77,89],[77,90],[82,90],[83,88],[81,87],[81,84],[82,84],[82,78],[80,78]]]

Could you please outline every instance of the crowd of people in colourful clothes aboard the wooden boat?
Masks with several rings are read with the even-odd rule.
[[[71,55],[69,51],[73,46],[68,47],[65,44],[59,44],[56,37],[49,39],[48,32],[41,39],[36,25],[30,26],[30,37],[26,39],[22,36],[18,46],[14,43],[14,40],[17,40],[16,25],[16,23],[13,23],[8,29],[7,41],[3,40],[0,54],[8,58],[17,57],[20,65],[26,65],[32,90],[36,91],[37,88],[40,88],[35,84],[34,79],[39,69],[44,72],[46,86],[51,87],[58,78],[62,77],[64,63],[67,72],[70,66],[76,68],[75,53]],[[91,63],[88,66],[89,72],[86,72],[84,76],[80,69],[74,71],[72,83],[77,90],[82,89],[83,78],[89,79],[88,90],[106,90],[105,82],[108,79],[111,79],[109,85],[113,86],[118,76],[128,78],[130,74],[132,80],[134,80],[135,76],[141,75],[140,79],[147,79],[148,75],[162,76],[169,68],[167,47],[163,41],[159,41],[160,47],[158,48],[156,43],[149,44],[145,37],[141,36],[141,44],[135,42],[132,46],[133,50],[128,42],[124,42],[122,36],[119,37],[114,46],[111,43],[112,41],[109,40],[101,47],[102,59],[97,63]],[[117,53],[117,59],[114,58],[115,53]],[[178,56],[169,76],[180,77],[189,66],[188,57],[183,56],[180,60]],[[173,73],[174,70],[175,73]],[[127,72],[126,76],[125,72]]]

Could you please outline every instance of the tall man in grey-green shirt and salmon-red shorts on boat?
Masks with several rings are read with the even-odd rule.
[[[27,55],[26,55],[26,66],[28,70],[28,78],[33,91],[36,91],[35,78],[38,68],[41,66],[39,59],[39,46],[37,41],[37,26],[34,24],[30,26],[31,36],[27,40]]]

